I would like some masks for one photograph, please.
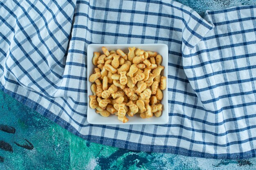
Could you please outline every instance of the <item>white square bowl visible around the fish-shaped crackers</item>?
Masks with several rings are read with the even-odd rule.
[[[89,95],[92,95],[91,85],[92,83],[88,81],[88,78],[94,72],[95,65],[92,64],[93,52],[101,52],[101,47],[105,46],[109,51],[121,49],[125,53],[128,52],[128,47],[140,48],[145,51],[153,51],[162,55],[163,60],[162,64],[164,66],[164,70],[161,72],[162,76],[166,77],[166,89],[163,90],[164,98],[161,101],[162,107],[162,116],[159,118],[153,116],[152,118],[142,119],[139,114],[135,114],[133,117],[127,116],[129,119],[128,122],[123,123],[117,119],[115,114],[110,115],[109,117],[103,117],[100,114],[96,113],[96,109],[92,109],[89,106]],[[168,46],[166,44],[90,44],[87,47],[87,87],[88,87],[88,110],[87,110],[87,120],[90,124],[166,124],[168,122]]]

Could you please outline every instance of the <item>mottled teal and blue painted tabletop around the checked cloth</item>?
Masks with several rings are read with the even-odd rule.
[[[178,2],[191,7],[201,16],[206,10],[256,4],[256,0],[178,0]],[[0,113],[0,170],[256,169],[256,158],[203,159],[168,153],[131,151],[88,142],[3,92],[0,92]]]

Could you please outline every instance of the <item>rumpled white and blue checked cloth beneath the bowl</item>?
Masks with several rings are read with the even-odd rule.
[[[88,124],[86,50],[92,43],[168,45],[168,124]],[[92,142],[255,157],[256,6],[207,11],[203,19],[168,0],[2,0],[0,87]]]

